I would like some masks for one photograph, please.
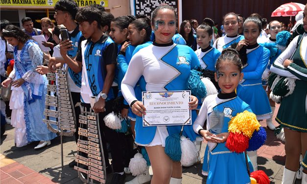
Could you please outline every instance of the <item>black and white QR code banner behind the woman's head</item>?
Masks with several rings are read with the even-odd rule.
[[[178,27],[182,22],[182,0],[130,0],[132,15],[146,15],[151,17],[151,13],[161,4],[173,6],[177,13]]]

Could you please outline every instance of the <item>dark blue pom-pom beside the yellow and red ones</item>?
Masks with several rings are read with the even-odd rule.
[[[263,127],[260,127],[259,131],[254,131],[252,138],[248,142],[248,148],[246,151],[258,150],[266,140],[266,132]]]

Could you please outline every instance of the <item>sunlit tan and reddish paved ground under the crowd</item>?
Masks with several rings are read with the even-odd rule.
[[[266,126],[263,121],[260,124]],[[274,121],[274,124],[278,126],[276,121]],[[281,184],[285,161],[284,143],[275,137],[273,131],[265,129],[267,140],[265,145],[258,150],[258,169],[263,170],[269,176],[271,184]],[[51,140],[51,145],[40,150],[34,150],[37,144],[38,142],[32,142],[21,148],[16,147],[14,145],[14,129],[7,125],[7,131],[0,139],[1,184],[82,184],[77,172],[68,166],[76,155],[74,138],[63,137],[63,169],[61,168],[59,137]],[[205,145],[206,143],[203,143],[201,147],[201,163],[183,168],[182,184],[206,183],[207,177],[201,174]],[[150,174],[152,175],[151,170]],[[110,182],[111,178],[111,174],[107,175],[107,183]],[[133,179],[133,176],[127,174],[126,181],[131,179]],[[301,180],[297,180],[296,184],[301,184]]]

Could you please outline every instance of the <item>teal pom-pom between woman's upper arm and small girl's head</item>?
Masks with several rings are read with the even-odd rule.
[[[190,70],[187,86],[193,95],[204,98],[207,96],[207,90],[204,83],[200,80],[200,74],[201,72],[195,69]]]

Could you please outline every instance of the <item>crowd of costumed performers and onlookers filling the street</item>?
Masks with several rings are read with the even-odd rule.
[[[268,23],[256,13],[246,19],[227,13],[219,36],[211,18],[201,24],[184,20],[178,26],[176,11],[167,4],[158,6],[151,17],[115,18],[100,5],[78,7],[74,0],[59,0],[54,10],[57,25],[42,18],[42,29],[33,28],[27,17],[22,20],[24,29],[0,21],[1,85],[12,91],[6,111],[1,100],[1,123],[11,110],[17,147],[40,141],[35,147],[39,149],[56,137],[43,122],[46,74],[64,69],[73,105],[81,103],[99,115],[106,172],[113,172],[111,184],[124,183],[136,147],[149,161],[143,173],[126,184],[181,184],[182,166],[189,165],[167,154],[166,142],[172,135],[189,138],[198,156],[200,140],[208,142],[202,167],[207,184],[250,183],[247,168],[258,170],[257,149],[244,149],[247,156],[230,149],[229,124],[237,114],[249,112],[266,121],[267,131],[274,131],[276,102],[280,103],[276,121],[285,135],[283,184],[292,184],[296,177],[307,184],[307,6],[292,35],[282,31],[279,21]],[[69,39],[61,38],[63,29]],[[32,39],[36,35],[44,35],[42,45],[51,51],[41,50]],[[196,81],[209,78],[215,92],[209,95],[203,83],[208,95],[201,94],[200,84],[191,90],[193,76]],[[142,92],[186,90],[191,90],[192,125],[143,126]],[[122,104],[118,116],[131,127],[124,133],[106,126],[104,120],[116,99]],[[74,111],[77,143],[80,109],[75,106]],[[128,141],[131,138],[134,143]],[[74,165],[76,161],[69,164]]]

